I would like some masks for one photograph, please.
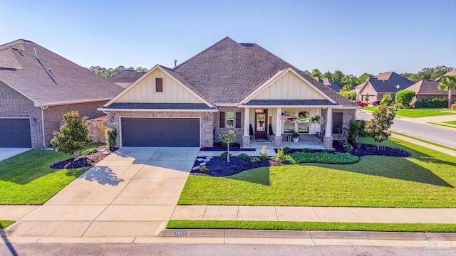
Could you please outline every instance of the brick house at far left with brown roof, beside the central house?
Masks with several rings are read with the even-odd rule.
[[[0,147],[49,146],[62,115],[100,117],[97,110],[123,90],[36,43],[0,46]]]

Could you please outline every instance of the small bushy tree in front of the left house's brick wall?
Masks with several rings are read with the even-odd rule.
[[[51,139],[51,145],[59,151],[75,154],[79,156],[79,150],[92,142],[88,125],[84,122],[87,117],[79,117],[77,111],[63,114],[65,124],[60,127],[59,132],[54,132],[54,137]]]

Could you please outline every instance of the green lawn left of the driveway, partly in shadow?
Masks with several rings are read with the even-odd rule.
[[[88,149],[99,144],[89,144]],[[72,156],[56,151],[29,150],[0,161],[0,205],[39,205],[89,168],[51,169],[49,166]]]

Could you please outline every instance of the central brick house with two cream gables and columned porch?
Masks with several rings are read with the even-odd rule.
[[[232,129],[249,147],[249,126],[266,139],[271,124],[274,146],[294,129],[303,140],[324,131],[331,147],[335,128],[347,127],[356,108],[256,43],[227,37],[175,68],[155,65],[100,110],[118,129],[118,146],[212,146]],[[285,122],[287,114],[304,121]],[[316,115],[325,118],[323,127],[310,125]]]

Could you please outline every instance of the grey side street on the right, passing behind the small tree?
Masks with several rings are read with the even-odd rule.
[[[366,112],[356,112],[356,119],[371,119],[372,115]],[[437,127],[432,124],[413,122],[407,119],[395,118],[391,126],[393,132],[408,134],[413,137],[425,139],[430,142],[456,148],[456,129]]]

